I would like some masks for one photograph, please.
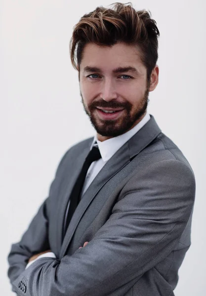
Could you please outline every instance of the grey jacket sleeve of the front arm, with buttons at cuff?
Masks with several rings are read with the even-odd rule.
[[[171,253],[194,198],[194,175],[183,162],[164,160],[133,174],[84,248],[61,260],[37,260],[13,281],[14,290],[25,295],[18,287],[25,279],[27,296],[125,295],[118,289],[133,286]]]

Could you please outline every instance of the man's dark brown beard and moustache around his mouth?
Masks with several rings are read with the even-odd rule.
[[[80,92],[80,95],[82,97],[81,92]],[[135,126],[140,121],[141,117],[144,115],[145,111],[147,110],[148,103],[149,103],[149,83],[147,84],[147,88],[144,93],[144,96],[140,100],[138,106],[136,106],[135,108],[128,101],[125,103],[119,103],[115,100],[106,102],[103,99],[100,99],[98,101],[93,101],[88,106],[85,106],[83,97],[82,97],[82,105],[83,105],[84,111],[88,115],[92,126],[95,128],[98,134],[105,137],[120,136],[125,132],[127,132],[129,129],[131,129],[133,126]],[[95,116],[94,114],[97,107],[124,108],[123,112],[124,113],[126,112],[126,114],[120,116],[116,120],[102,120],[98,118],[98,116]],[[132,107],[133,107],[133,110],[132,110]]]

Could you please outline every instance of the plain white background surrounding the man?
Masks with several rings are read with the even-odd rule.
[[[112,1],[0,2],[0,282],[11,296],[7,255],[46,198],[63,153],[94,134],[69,57],[73,26]],[[149,113],[189,160],[197,182],[192,245],[175,296],[206,295],[205,0],[138,0],[160,30],[160,79]]]

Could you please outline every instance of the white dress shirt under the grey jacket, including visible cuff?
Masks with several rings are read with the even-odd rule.
[[[94,136],[94,140],[91,144],[90,150],[92,149],[93,146],[97,146],[99,148],[101,157],[100,159],[92,162],[90,165],[86,178],[84,181],[84,185],[82,188],[82,195],[85,193],[87,190],[88,186],[92,183],[94,178],[97,176],[99,171],[103,168],[103,166],[107,163],[107,161],[119,150],[132,136],[134,136],[148,121],[150,120],[150,115],[148,113],[145,114],[145,116],[141,119],[139,123],[137,123],[132,129],[130,129],[128,132],[124,133],[123,135],[120,135],[118,137],[114,137],[108,140],[105,140],[103,142],[100,142],[97,140],[97,134]],[[67,217],[68,211],[69,211],[69,204],[67,206],[67,212],[65,217]],[[64,225],[66,223],[66,218]],[[81,246],[80,246],[81,247]],[[35,262],[37,259],[40,259],[42,257],[52,257],[56,258],[55,254],[52,252],[44,253],[37,257],[36,259],[32,260],[29,262],[26,266],[29,267],[33,262]]]

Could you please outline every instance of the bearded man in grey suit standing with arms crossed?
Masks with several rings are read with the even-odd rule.
[[[121,3],[75,26],[72,64],[97,133],[66,152],[48,198],[12,245],[8,276],[18,295],[174,295],[195,178],[147,113],[158,36],[148,12]]]

